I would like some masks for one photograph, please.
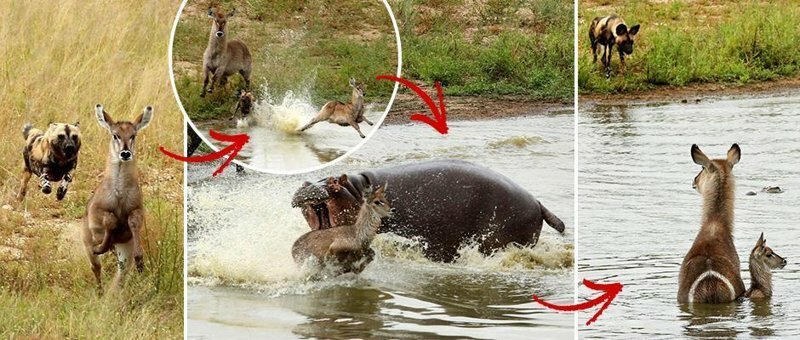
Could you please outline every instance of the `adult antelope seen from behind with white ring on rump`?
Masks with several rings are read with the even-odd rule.
[[[678,279],[680,303],[726,303],[744,294],[739,255],[733,244],[733,166],[741,158],[733,144],[726,159],[709,159],[692,145],[692,160],[703,167],[693,186],[703,196],[700,232],[683,259]]]

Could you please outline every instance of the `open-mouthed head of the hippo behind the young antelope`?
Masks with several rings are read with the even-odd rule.
[[[351,225],[361,205],[361,194],[354,191],[347,175],[305,182],[295,192],[292,207],[302,209],[311,230]]]

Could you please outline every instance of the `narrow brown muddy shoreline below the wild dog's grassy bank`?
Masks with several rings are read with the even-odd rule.
[[[789,94],[800,90],[800,77],[750,84],[703,83],[687,86],[660,86],[653,90],[608,94],[579,94],[578,110],[598,105],[643,105],[697,103],[733,96],[762,97]]]

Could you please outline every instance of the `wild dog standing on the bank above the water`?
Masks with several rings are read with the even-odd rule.
[[[603,55],[601,61],[606,72],[606,78],[611,77],[611,52],[617,46],[619,52],[619,62],[622,72],[625,72],[625,55],[633,53],[633,41],[639,33],[639,25],[633,25],[630,29],[622,18],[616,14],[607,17],[597,17],[592,20],[589,26],[589,41],[592,43],[592,63],[597,63],[597,45],[603,45]]]

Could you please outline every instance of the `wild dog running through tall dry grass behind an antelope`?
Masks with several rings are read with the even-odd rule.
[[[64,199],[72,183],[72,172],[78,165],[78,152],[81,149],[79,124],[54,123],[50,124],[47,131],[25,124],[22,136],[25,138],[25,148],[22,150],[25,168],[22,170],[17,200],[25,198],[31,175],[39,177],[39,185],[45,194],[53,191],[51,182],[60,181],[56,199]]]

